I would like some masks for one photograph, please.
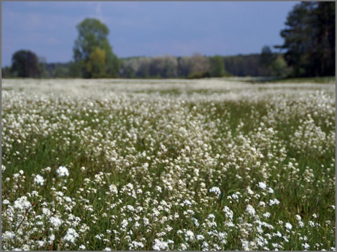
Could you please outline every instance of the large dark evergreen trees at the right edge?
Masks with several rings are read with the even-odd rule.
[[[293,7],[281,31],[284,59],[292,76],[335,74],[335,2],[301,2]]]

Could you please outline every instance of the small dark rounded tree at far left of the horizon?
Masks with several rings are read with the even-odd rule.
[[[40,77],[40,66],[37,55],[30,50],[18,50],[12,56],[11,73],[20,78]]]

